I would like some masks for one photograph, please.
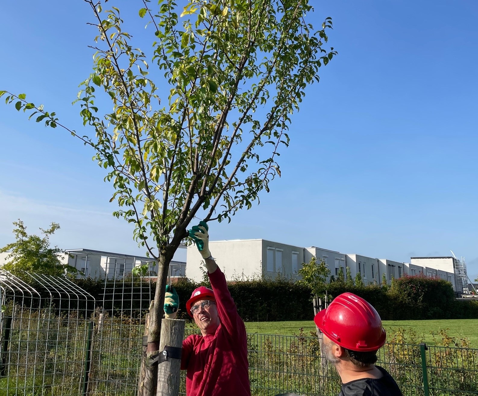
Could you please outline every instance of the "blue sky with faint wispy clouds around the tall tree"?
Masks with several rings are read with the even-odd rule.
[[[114,1],[141,48],[140,2]],[[65,5],[67,4],[67,5]],[[95,31],[83,1],[1,2],[0,89],[24,92],[80,130],[77,85]],[[339,52],[294,115],[282,177],[211,239],[264,238],[396,261],[465,256],[478,276],[478,3],[320,1]],[[111,186],[72,136],[0,104],[0,245],[11,222],[57,221],[62,248],[138,253]],[[125,251],[126,250],[126,251]],[[141,252],[139,252],[141,253]]]

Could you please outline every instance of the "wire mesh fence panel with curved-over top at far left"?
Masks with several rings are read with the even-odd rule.
[[[0,271],[0,393],[79,395],[95,300],[64,278],[26,278],[30,284]]]

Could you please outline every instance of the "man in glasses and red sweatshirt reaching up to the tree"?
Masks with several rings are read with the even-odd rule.
[[[204,258],[212,290],[198,287],[186,309],[201,335],[183,341],[181,369],[186,370],[187,396],[250,396],[247,335],[244,322],[229,293],[224,273],[209,251],[208,227],[204,221],[189,235]],[[166,293],[164,311],[169,318],[178,301],[174,288]],[[175,306],[171,309],[171,306]]]

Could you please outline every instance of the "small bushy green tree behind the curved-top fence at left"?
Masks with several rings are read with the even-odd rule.
[[[66,272],[75,273],[76,268],[60,260],[64,250],[57,246],[50,246],[50,236],[60,228],[57,223],[52,223],[50,228],[41,229],[43,236],[28,235],[23,221],[14,221],[13,235],[15,241],[0,249],[0,253],[10,252],[6,257],[7,262],[2,266],[4,270],[23,278],[25,271],[37,272],[43,275],[62,276]]]

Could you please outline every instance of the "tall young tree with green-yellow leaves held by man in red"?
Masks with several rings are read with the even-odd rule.
[[[25,94],[0,96],[81,139],[108,169],[111,201],[120,207],[114,215],[134,225],[134,239],[158,262],[152,352],[169,262],[187,227],[195,218],[230,221],[280,176],[277,158],[289,144],[291,115],[307,84],[319,81],[319,67],[336,54],[323,48],[332,22],[326,18],[315,30],[308,0],[192,0],[180,15],[174,0],[159,0],[156,10],[143,0],[139,15],[155,35],[151,60],[164,75],[158,83],[145,53],[123,31],[120,10],[85,2],[98,35],[93,73],[77,102],[93,134],[61,124]]]

